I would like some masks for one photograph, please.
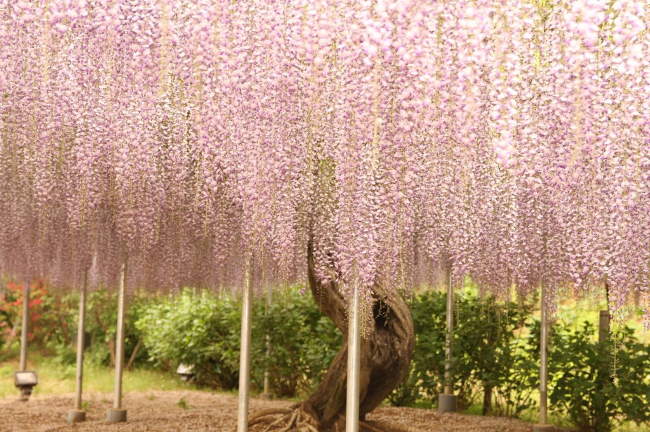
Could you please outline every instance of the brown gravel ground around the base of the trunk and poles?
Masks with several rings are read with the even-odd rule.
[[[237,398],[234,395],[200,391],[151,391],[124,397],[128,422],[107,424],[106,410],[111,395],[88,394],[88,421],[69,426],[65,415],[73,405],[73,395],[35,396],[27,402],[0,399],[0,432],[45,431],[224,431],[236,428]],[[251,412],[283,408],[286,401],[253,399]],[[518,420],[459,414],[440,415],[432,410],[379,408],[369,419],[389,421],[422,432],[530,432],[532,426]]]

